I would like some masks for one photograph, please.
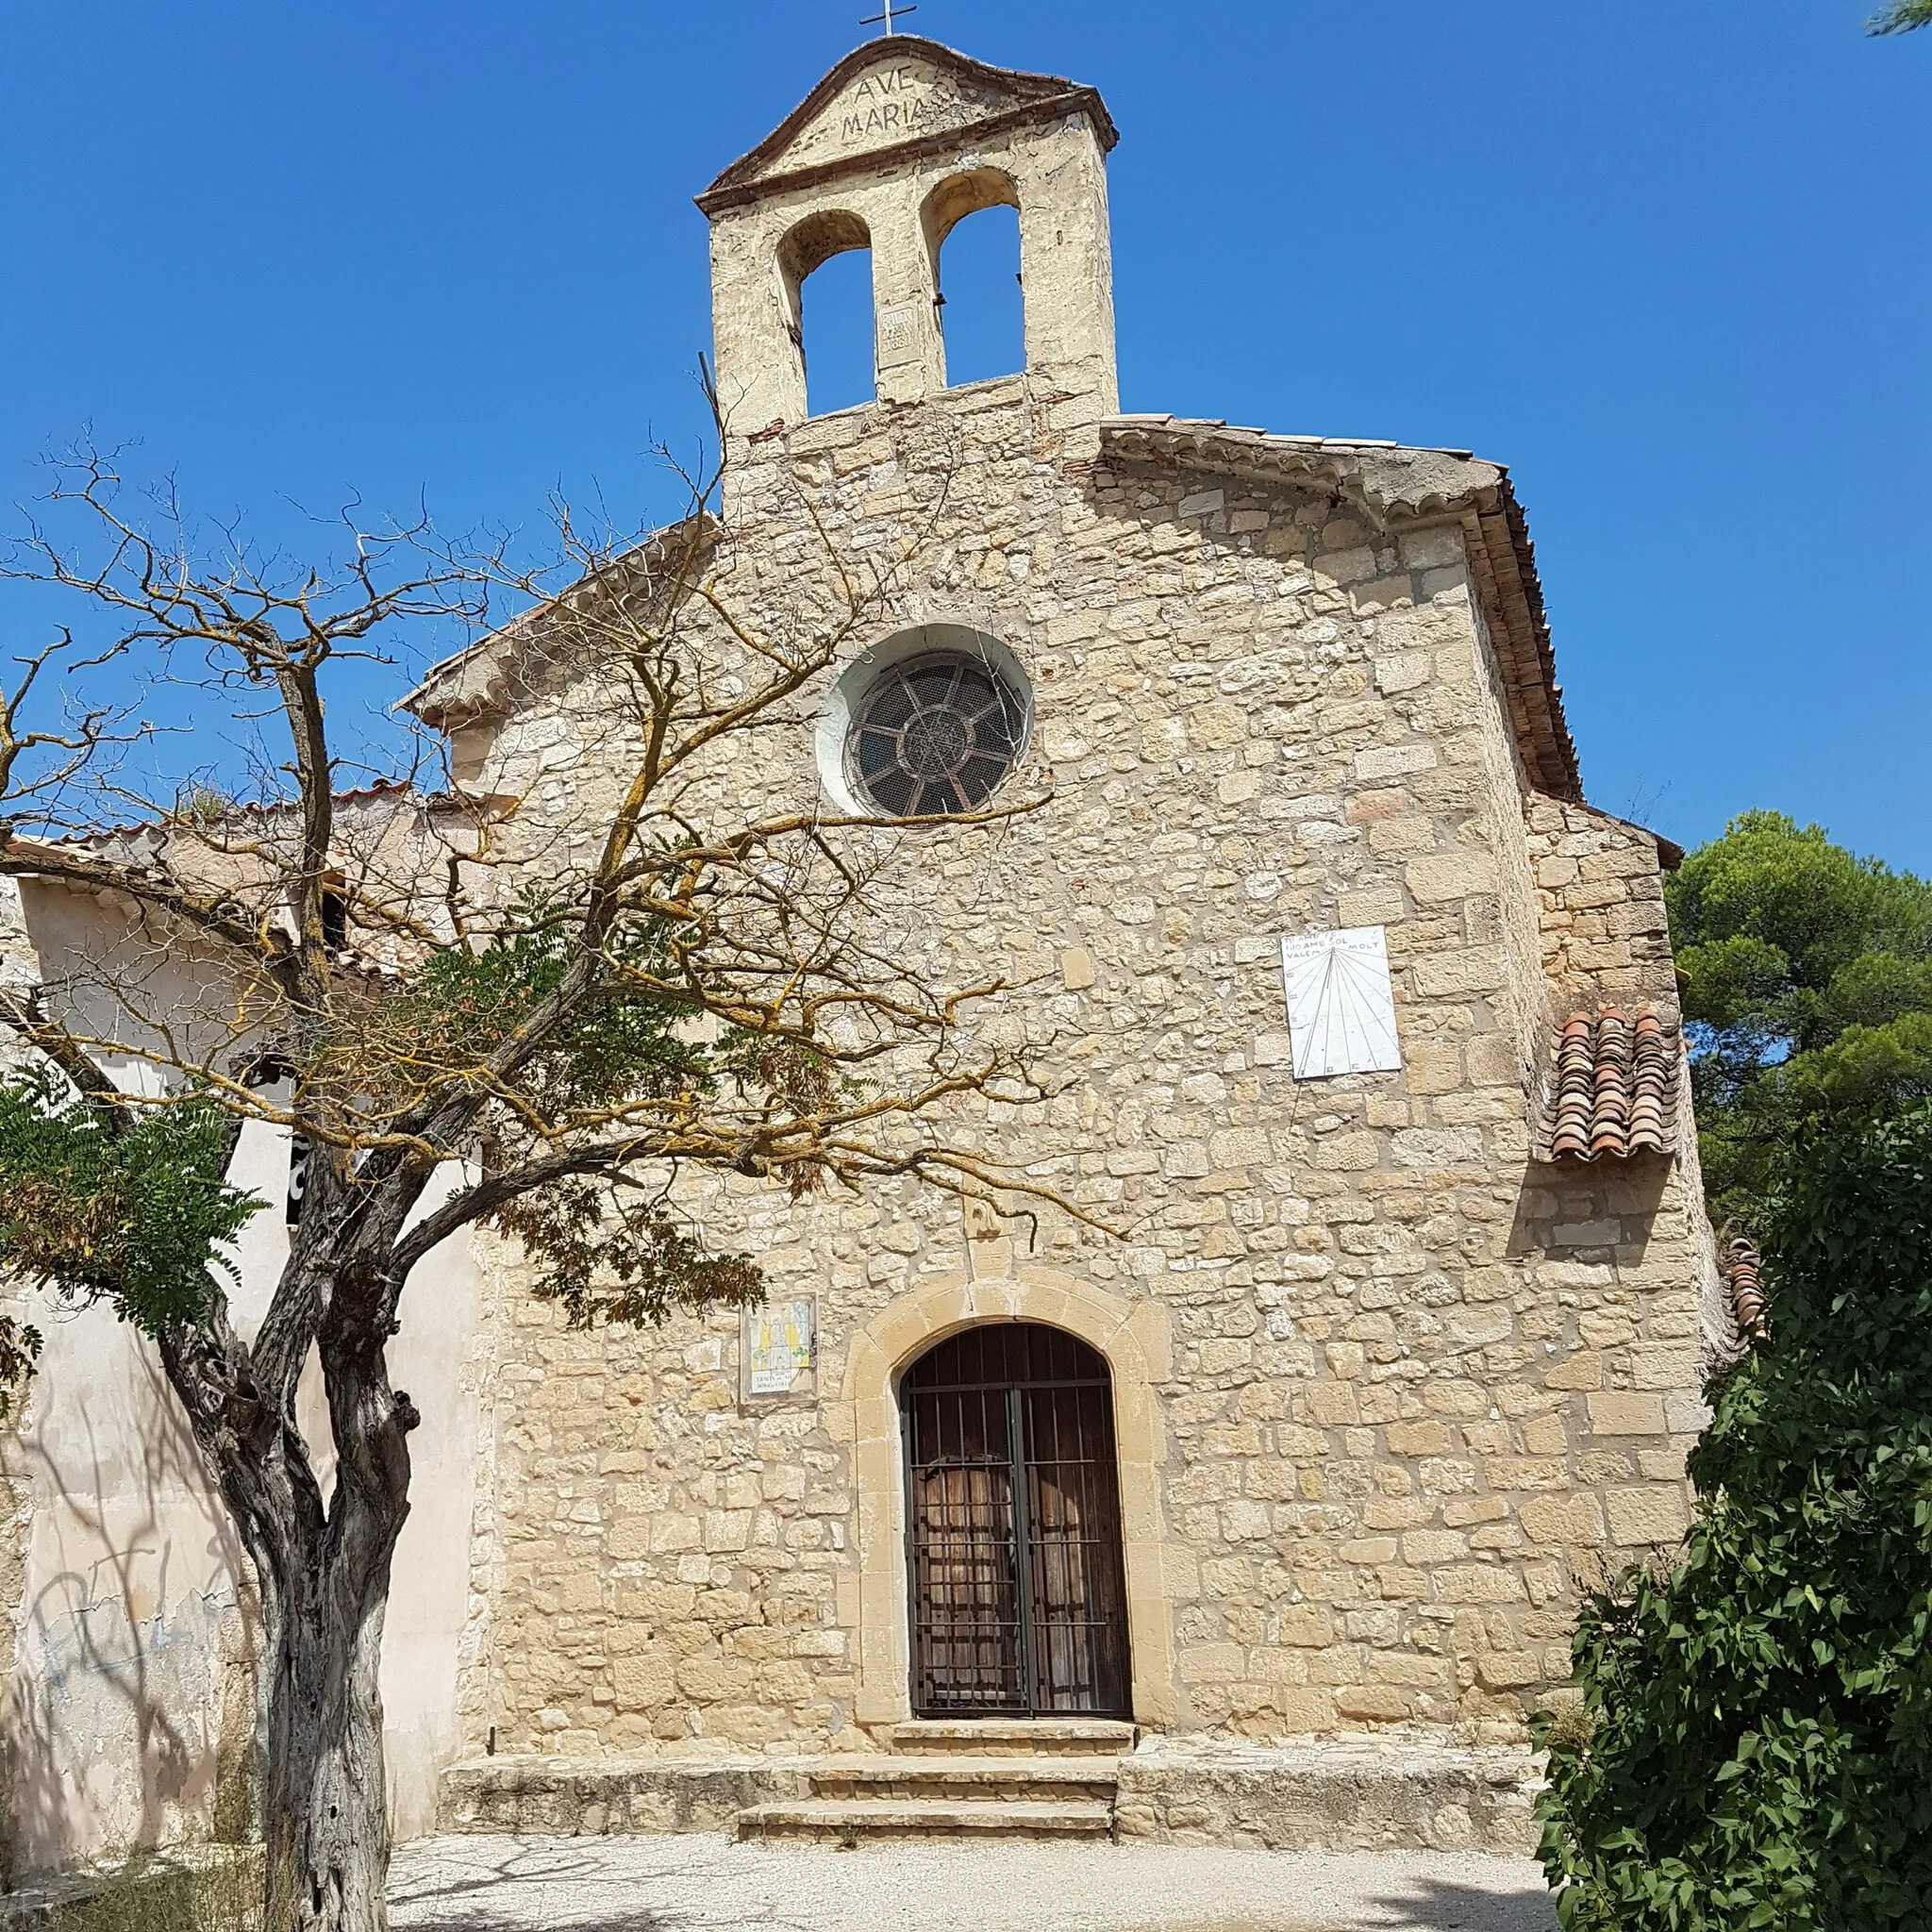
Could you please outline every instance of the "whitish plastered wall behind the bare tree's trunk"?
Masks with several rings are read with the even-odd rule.
[[[54,978],[64,956],[108,956],[114,912],[33,889],[10,966]],[[197,964],[172,962],[187,995]],[[166,1001],[149,966],[149,999]],[[110,1068],[124,1086],[131,1068]],[[267,1310],[288,1254],[288,1132],[249,1124],[230,1177],[265,1208],[236,1242],[238,1325]],[[450,1177],[454,1182],[454,1175]],[[446,1184],[450,1184],[446,1182]],[[423,1211],[435,1206],[431,1194]],[[8,1443],[21,1509],[14,1571],[12,1822],[21,1870],[234,1830],[245,1804],[259,1634],[247,1563],[209,1484],[153,1345],[108,1308],[17,1306],[46,1337]],[[477,1443],[466,1379],[477,1316],[468,1238],[439,1246],[404,1294],[390,1372],[423,1426],[412,1437],[412,1511],[396,1549],[383,1640],[383,1704],[396,1830],[435,1822],[456,1756],[456,1654],[468,1613]],[[327,1443],[321,1376],[299,1395]],[[323,1459],[327,1482],[327,1457]]]

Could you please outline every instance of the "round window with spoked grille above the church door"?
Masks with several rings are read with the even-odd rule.
[[[846,759],[881,811],[972,811],[1020,755],[1026,707],[987,663],[945,653],[895,665],[866,692]]]

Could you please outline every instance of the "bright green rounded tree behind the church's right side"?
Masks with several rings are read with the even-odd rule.
[[[1747,811],[1665,891],[1704,1184],[1752,1225],[1806,1121],[1932,1099],[1932,885]]]

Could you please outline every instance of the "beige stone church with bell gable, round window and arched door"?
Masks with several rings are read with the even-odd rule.
[[[1122,1832],[1520,1843],[1578,1586],[1689,1520],[1723,1335],[1673,852],[1582,798],[1501,466],[1119,412],[1113,143],[1092,89],[895,37],[699,205],[721,593],[784,622],[833,558],[881,585],[705,806],[1051,788],[893,835],[881,933],[1024,987],[987,1024],[1039,1043],[1055,1097],[974,1132],[1119,1233],[721,1184],[707,1227],[792,1323],[777,1370],[736,1314],[566,1331],[466,1242],[439,1333],[398,1345],[442,1443],[390,1621],[427,1660],[402,1708],[437,1687],[406,1828],[846,1830],[922,1799],[879,1762],[943,1750],[1119,1758]],[[1026,369],[949,386],[939,251],[991,205],[1018,211]],[[877,402],[811,417],[802,290],[852,247]],[[599,692],[518,649],[413,703],[464,788],[591,815]],[[951,684],[914,742],[922,676]],[[15,922],[46,970],[52,910]],[[1379,1065],[1291,1024],[1283,941],[1333,933],[1368,947],[1370,1007],[1387,987]],[[176,1692],[211,1764],[218,1687]],[[1306,1799],[1323,1766],[1352,1799]],[[1053,1789],[1092,1824],[1088,1774]]]

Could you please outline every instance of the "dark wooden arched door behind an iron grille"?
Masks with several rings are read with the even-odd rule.
[[[1107,1362],[991,1321],[920,1356],[900,1405],[914,1714],[1128,1716]]]

